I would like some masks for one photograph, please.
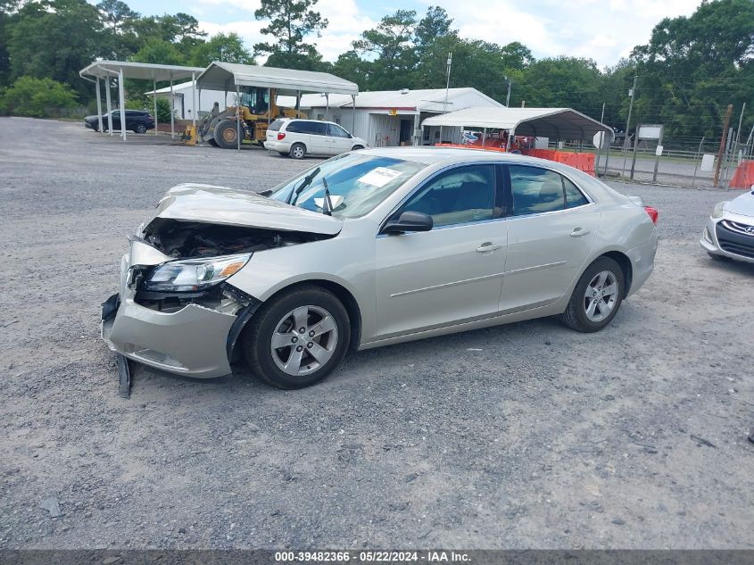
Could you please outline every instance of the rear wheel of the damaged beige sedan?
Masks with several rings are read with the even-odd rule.
[[[609,257],[599,258],[578,279],[562,320],[577,331],[599,331],[615,318],[625,284],[620,265]]]

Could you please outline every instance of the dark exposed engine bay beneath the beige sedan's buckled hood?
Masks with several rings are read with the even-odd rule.
[[[144,228],[143,237],[162,253],[178,259],[251,253],[331,236],[156,218]]]

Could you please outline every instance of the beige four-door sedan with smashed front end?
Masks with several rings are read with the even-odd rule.
[[[650,276],[656,221],[568,166],[471,149],[342,154],[266,195],[179,185],[130,237],[103,337],[298,388],[349,350],[553,315],[593,332]]]

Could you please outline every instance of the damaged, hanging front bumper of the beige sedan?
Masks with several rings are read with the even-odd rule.
[[[187,303],[170,312],[137,303],[137,291],[129,283],[132,266],[161,262],[156,250],[132,240],[130,253],[123,256],[120,293],[102,305],[102,337],[108,347],[128,359],[179,375],[215,378],[231,372],[228,336],[236,320],[248,311],[243,303],[225,299],[221,308]],[[132,258],[134,258],[132,260]],[[251,298],[251,297],[249,297]],[[253,300],[253,299],[251,299]],[[230,307],[228,307],[230,302]]]

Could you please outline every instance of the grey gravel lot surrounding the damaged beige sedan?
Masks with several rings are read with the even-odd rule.
[[[0,548],[754,548],[754,265],[697,243],[731,193],[615,185],[661,241],[599,334],[394,345],[292,392],[135,366],[123,400],[98,318],[126,236],[178,182],[261,190],[312,160],[0,131]]]

